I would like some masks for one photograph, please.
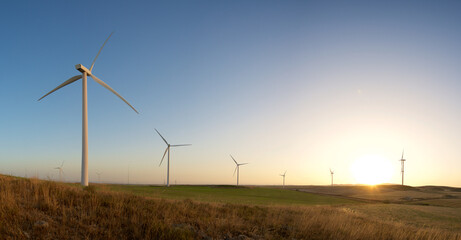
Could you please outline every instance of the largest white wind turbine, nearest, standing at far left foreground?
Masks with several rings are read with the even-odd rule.
[[[104,48],[104,45],[106,45],[107,41],[109,38],[112,36],[113,33],[109,35],[109,37],[106,39],[104,44],[102,45],[101,49],[99,49],[98,54],[96,54],[96,57],[93,60],[93,63],[91,63],[90,69],[87,69],[85,66],[82,64],[77,64],[75,65],[75,69],[77,69],[79,72],[82,74],[73,76],[69,78],[67,81],[63,82],[61,85],[57,86],[55,89],[51,90],[49,93],[45,94],[43,97],[38,99],[38,101],[42,100],[44,97],[50,95],[54,91],[67,86],[79,79],[82,79],[82,178],[81,178],[81,184],[82,186],[88,186],[88,101],[87,101],[87,76],[93,78],[94,81],[97,83],[101,84],[103,87],[105,87],[107,90],[111,91],[113,94],[117,95],[120,99],[122,99],[128,106],[130,106],[136,113],[136,109],[134,109],[131,104],[129,104],[120,94],[118,94],[114,89],[112,89],[109,85],[107,85],[105,82],[103,82],[101,79],[97,78],[93,73],[93,67],[94,63],[96,62],[96,59],[98,58],[99,54],[101,53],[102,49]]]

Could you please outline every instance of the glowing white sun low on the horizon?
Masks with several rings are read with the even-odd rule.
[[[368,185],[389,182],[393,172],[389,160],[379,155],[362,156],[352,164],[351,171],[357,183]]]

